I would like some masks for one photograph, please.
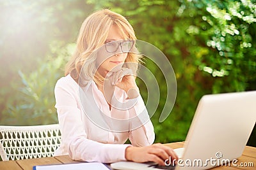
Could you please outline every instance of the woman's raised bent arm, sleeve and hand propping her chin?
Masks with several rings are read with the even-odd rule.
[[[123,68],[109,75],[112,84],[124,90],[128,96],[124,101],[124,108],[129,108],[127,109],[129,111],[129,140],[132,145],[152,145],[155,139],[154,127],[148,116],[143,99],[140,96],[140,90],[136,85],[132,70]],[[127,103],[132,103],[134,106],[125,106]]]

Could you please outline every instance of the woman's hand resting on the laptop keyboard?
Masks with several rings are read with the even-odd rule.
[[[166,159],[170,160],[170,157],[172,160],[179,159],[172,148],[161,143],[143,147],[129,146],[125,150],[125,159],[133,162],[156,162],[165,166]]]

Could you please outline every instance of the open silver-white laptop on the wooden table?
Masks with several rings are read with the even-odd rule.
[[[210,169],[230,166],[243,153],[256,121],[256,91],[203,96],[176,166],[115,162],[112,169]],[[170,134],[171,135],[171,134]],[[237,160],[235,161],[235,163]]]

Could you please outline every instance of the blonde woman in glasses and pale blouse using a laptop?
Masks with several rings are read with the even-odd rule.
[[[171,148],[152,145],[154,127],[135,82],[140,62],[131,52],[135,39],[129,22],[113,11],[100,10],[84,20],[66,76],[54,91],[62,135],[55,155],[161,165],[170,156],[177,159]],[[124,144],[128,138],[132,145]]]

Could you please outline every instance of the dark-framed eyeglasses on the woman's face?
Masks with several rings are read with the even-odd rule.
[[[130,52],[132,46],[134,45],[134,41],[132,39],[125,39],[125,40],[118,40],[118,41],[111,41],[109,43],[105,43],[106,51],[109,53],[116,52],[121,46],[121,50],[124,53]]]

